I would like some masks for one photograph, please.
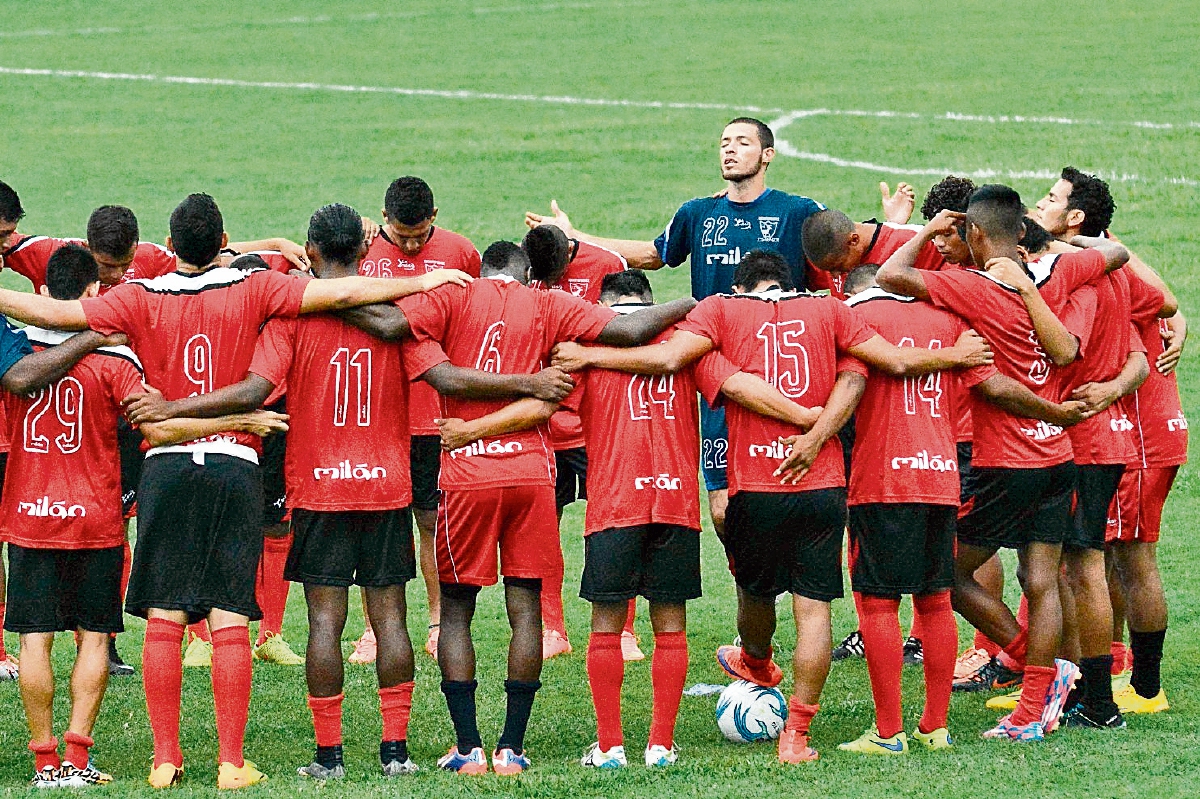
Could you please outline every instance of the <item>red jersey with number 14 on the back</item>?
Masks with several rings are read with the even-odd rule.
[[[846,301],[896,347],[953,347],[962,320],[928,302],[871,288]],[[965,388],[983,383],[995,367],[961,376]],[[955,421],[962,396],[960,376],[935,372],[894,378],[871,370],[854,411],[854,450],[847,504],[959,504]]]

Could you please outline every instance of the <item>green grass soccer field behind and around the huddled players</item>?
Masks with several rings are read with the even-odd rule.
[[[0,0],[0,179],[20,192],[29,210],[22,229],[29,233],[82,235],[92,208],[120,203],[137,211],[144,239],[162,240],[179,199],[208,191],[221,204],[232,239],[302,241],[317,206],[336,200],[378,216],[388,182],[418,174],[434,188],[438,222],[480,248],[520,236],[522,212],[542,210],[551,197],[581,229],[650,239],[680,203],[720,187],[719,131],[730,118],[754,110],[769,121],[790,120],[778,126],[787,145],[780,145],[784,155],[772,166],[770,185],[862,218],[877,214],[880,180],[908,180],[923,191],[943,174],[938,170],[991,170],[1032,204],[1061,166],[1099,170],[1114,178],[1115,230],[1162,270],[1189,313],[1200,299],[1193,268],[1200,262],[1194,235],[1200,14],[1194,2],[967,0],[934,10],[911,0],[853,6]],[[791,114],[806,109],[828,113]],[[19,278],[5,274],[0,281]],[[654,283],[660,299],[680,296],[686,272],[656,274]],[[1192,417],[1200,416],[1195,366],[1193,349],[1181,368]],[[985,744],[978,733],[995,714],[979,698],[956,696],[953,755],[856,759],[835,744],[871,723],[866,671],[857,662],[836,666],[826,689],[814,726],[822,751],[817,764],[785,769],[769,746],[724,743],[709,697],[684,699],[678,768],[594,774],[577,765],[595,734],[582,656],[588,612],[570,599],[568,621],[578,651],[544,672],[546,687],[528,739],[535,762],[530,774],[515,782],[462,782],[436,771],[434,758],[454,738],[437,668],[419,655],[410,738],[422,773],[395,787],[374,776],[373,674],[348,668],[350,779],[323,791],[581,798],[1194,795],[1200,591],[1192,576],[1200,570],[1200,543],[1189,533],[1198,517],[1200,488],[1195,471],[1184,468],[1168,507],[1162,552],[1171,603],[1164,680],[1172,710],[1130,719],[1124,732],[1067,731],[1037,746]],[[571,596],[581,569],[581,506],[566,522]],[[691,606],[689,683],[721,680],[712,651],[733,631],[732,584],[710,533],[704,578],[706,596]],[[409,621],[416,641],[425,624],[421,595],[414,584]],[[498,594],[485,596],[476,620],[480,716],[485,741],[492,743],[503,716],[506,625]],[[793,645],[788,624],[785,619],[780,635],[787,653]],[[852,624],[848,602],[835,603],[835,635]],[[139,663],[143,625],[130,620],[128,626],[121,648]],[[352,621],[347,641],[360,630]],[[284,635],[302,648],[299,590]],[[13,636],[8,644],[16,648]],[[68,641],[60,650],[65,695]],[[905,687],[912,725],[920,702],[917,669],[906,669]],[[216,774],[208,674],[187,673],[184,691],[185,789],[203,794]],[[271,781],[253,793],[316,791],[292,776],[311,756],[304,696],[301,669],[256,666],[247,755]],[[644,745],[648,703],[646,661],[632,665],[626,678],[626,737],[634,752]],[[0,791],[20,792],[31,758],[14,685],[0,685]],[[118,776],[108,792],[149,791],[143,780],[150,732],[139,679],[113,681],[96,738],[97,762]]]

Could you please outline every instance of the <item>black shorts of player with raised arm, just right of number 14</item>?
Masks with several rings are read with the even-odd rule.
[[[1072,461],[1039,469],[976,468],[971,511],[959,519],[959,542],[980,548],[1020,549],[1062,543],[1070,535],[1075,494]]]

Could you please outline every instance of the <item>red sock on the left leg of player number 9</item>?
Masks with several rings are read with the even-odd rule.
[[[179,702],[184,685],[184,661],[179,647],[184,643],[184,625],[169,619],[149,619],[142,647],[142,681],[146,695],[146,713],[154,732],[154,764],[184,765],[179,749]]]

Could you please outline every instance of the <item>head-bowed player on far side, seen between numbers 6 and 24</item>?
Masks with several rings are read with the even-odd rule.
[[[600,300],[601,284],[606,276],[626,269],[625,259],[611,250],[587,241],[568,239],[562,228],[539,224],[521,241],[529,256],[534,288],[559,289],[588,302]],[[554,506],[562,527],[563,510],[576,499],[587,499],[588,451],[584,446],[583,422],[571,408],[560,407],[550,417],[550,440],[554,447],[554,467],[558,482],[554,485]],[[620,647],[625,660],[646,657],[637,647],[634,635],[632,606],[626,617],[626,629],[622,632]],[[563,576],[553,575],[541,585],[541,655],[544,659],[570,654],[571,643],[566,636],[566,618],[563,613]]]

